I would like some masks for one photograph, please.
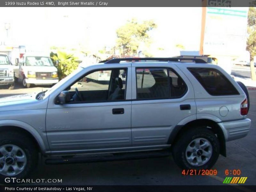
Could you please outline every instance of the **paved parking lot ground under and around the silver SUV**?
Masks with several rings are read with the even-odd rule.
[[[1,89],[0,97],[40,92],[42,89],[46,90],[49,87],[23,89],[18,85],[14,90]],[[241,170],[240,177],[248,177],[243,185],[255,185],[256,90],[249,90],[249,94],[251,106],[248,118],[252,120],[251,130],[246,137],[227,142],[227,157],[220,156],[212,167],[218,171],[217,176],[184,176],[181,174],[182,170],[174,163],[172,156],[65,165],[45,165],[41,162],[31,173],[30,178],[62,179],[62,183],[41,182],[31,183],[31,185],[224,185],[222,182],[226,177],[225,170],[234,169]],[[233,175],[228,176],[233,177]]]

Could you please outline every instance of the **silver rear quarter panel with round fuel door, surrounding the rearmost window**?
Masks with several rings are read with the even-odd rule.
[[[177,66],[188,77],[195,91],[196,101],[196,117],[197,119],[211,119],[215,122],[232,121],[243,119],[246,116],[240,114],[240,107],[243,100],[246,98],[244,91],[236,83],[236,81],[226,73],[222,68],[211,64],[191,64],[185,63]],[[215,68],[225,75],[228,80],[234,85],[239,94],[237,95],[223,95],[212,96],[204,87],[197,81],[197,79],[190,73],[187,68]],[[223,115],[224,110],[224,115]]]

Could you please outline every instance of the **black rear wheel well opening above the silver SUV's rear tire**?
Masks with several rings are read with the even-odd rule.
[[[196,119],[183,125],[176,125],[169,136],[168,144],[174,145],[180,135],[182,135],[186,130],[198,126],[203,126],[205,129],[210,129],[214,134],[217,135],[217,138],[220,142],[220,154],[226,157],[226,140],[224,133],[222,132],[222,129],[217,124],[217,122],[210,119]]]

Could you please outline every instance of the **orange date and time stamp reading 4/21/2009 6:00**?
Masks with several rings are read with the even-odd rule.
[[[233,170],[225,170],[225,175],[241,175],[240,169],[233,169]],[[217,175],[218,171],[216,169],[188,169],[188,170],[182,170],[182,175]]]

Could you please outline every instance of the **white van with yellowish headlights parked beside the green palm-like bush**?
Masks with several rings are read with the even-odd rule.
[[[53,85],[59,82],[57,68],[49,56],[26,53],[16,62],[19,63],[19,68],[14,70],[15,81],[21,79],[24,87],[29,88],[31,84]]]

